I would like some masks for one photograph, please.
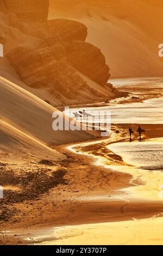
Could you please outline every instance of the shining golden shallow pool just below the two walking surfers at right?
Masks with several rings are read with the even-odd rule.
[[[134,187],[125,188],[124,197],[145,200],[163,200],[163,138],[144,142],[122,142],[107,146],[109,150],[120,155],[131,166],[114,166],[120,172],[131,173]],[[137,182],[140,183],[137,186]]]

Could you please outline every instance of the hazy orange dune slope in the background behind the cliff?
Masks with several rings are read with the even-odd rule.
[[[86,41],[103,52],[111,77],[162,74],[163,3],[161,0],[51,0],[49,19],[84,23]]]

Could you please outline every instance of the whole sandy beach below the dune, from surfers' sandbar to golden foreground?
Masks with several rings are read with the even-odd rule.
[[[161,144],[163,125],[141,124],[146,130],[142,142],[136,133],[129,142],[129,126],[135,131],[138,124],[112,124],[108,138],[55,146],[58,154],[65,156],[60,162],[1,162],[2,179],[8,184],[2,201],[1,243],[160,244],[162,199],[157,195],[162,176],[159,183],[158,174],[152,176],[155,193],[149,188],[151,194],[142,196],[150,176],[143,176],[142,170],[137,174],[136,164],[130,164],[114,145]],[[12,180],[11,166],[16,170]],[[23,173],[21,180],[16,173]],[[155,233],[148,232],[149,226]],[[122,232],[127,232],[123,239],[118,236]]]

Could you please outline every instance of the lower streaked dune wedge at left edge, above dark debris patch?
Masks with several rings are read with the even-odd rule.
[[[59,161],[64,156],[57,150],[47,147],[33,137],[11,126],[6,121],[0,119],[1,150],[0,155],[4,159],[48,159]]]

